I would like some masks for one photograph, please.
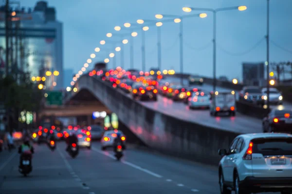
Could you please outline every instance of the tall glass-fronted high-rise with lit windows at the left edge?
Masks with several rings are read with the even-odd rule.
[[[5,61],[4,6],[0,7],[0,61]],[[11,71],[29,72],[30,76],[44,76],[46,71],[58,71],[59,75],[46,77],[46,87],[63,88],[63,24],[56,20],[54,7],[46,1],[38,1],[34,9],[10,8],[13,51],[9,62]],[[18,45],[18,49],[16,47]],[[12,61],[12,62],[11,62]],[[3,71],[2,63],[0,70]],[[2,68],[1,68],[2,67]],[[54,83],[55,82],[55,83]]]

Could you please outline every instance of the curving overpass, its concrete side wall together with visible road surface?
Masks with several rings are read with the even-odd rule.
[[[260,132],[261,120],[237,114],[235,117],[211,117],[209,111],[192,111],[183,103],[159,97],[156,102],[133,100],[111,84],[89,75],[81,76],[68,102],[87,90],[108,109],[116,113],[147,146],[164,153],[197,161],[217,163],[218,149],[229,147],[240,133]],[[205,90],[212,85],[204,84]],[[217,87],[218,91],[230,91]],[[211,89],[212,90],[212,89]]]

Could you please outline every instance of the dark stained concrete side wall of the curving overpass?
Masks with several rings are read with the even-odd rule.
[[[76,87],[91,91],[147,146],[165,154],[218,165],[218,149],[229,147],[238,135],[158,113],[87,75]]]

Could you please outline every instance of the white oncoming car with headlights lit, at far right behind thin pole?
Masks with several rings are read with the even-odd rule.
[[[262,105],[267,103],[267,88],[262,89]],[[276,88],[269,88],[269,103],[275,105],[282,105],[283,104],[283,96]]]

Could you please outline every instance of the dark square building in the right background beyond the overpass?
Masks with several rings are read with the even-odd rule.
[[[242,78],[243,84],[249,86],[264,86],[265,66],[264,63],[243,63],[242,64]]]

